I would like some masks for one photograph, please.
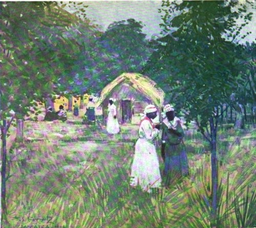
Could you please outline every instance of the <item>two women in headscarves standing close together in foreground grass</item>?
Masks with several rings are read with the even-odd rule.
[[[164,161],[164,180],[159,169],[155,139],[160,133],[160,124],[154,124],[157,108],[148,105],[139,126],[139,139],[135,144],[135,155],[132,163],[132,187],[140,185],[143,191],[151,192],[152,188],[168,187],[181,176],[188,175],[188,161],[183,142],[184,132],[181,121],[174,114],[174,107],[165,105],[162,116],[162,158]]]

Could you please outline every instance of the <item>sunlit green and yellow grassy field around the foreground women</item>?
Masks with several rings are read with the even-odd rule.
[[[121,125],[110,138],[81,119],[26,121],[25,142],[8,157],[6,227],[209,227],[210,152],[201,134],[186,132],[190,176],[148,194],[129,186],[137,131]],[[218,227],[256,226],[255,139],[253,129],[219,131]]]

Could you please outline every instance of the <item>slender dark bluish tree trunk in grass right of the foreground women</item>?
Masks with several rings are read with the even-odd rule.
[[[211,227],[216,227],[217,219],[217,191],[218,191],[218,169],[217,169],[217,124],[214,125],[214,117],[209,119],[211,133]],[[218,121],[216,119],[216,121]]]

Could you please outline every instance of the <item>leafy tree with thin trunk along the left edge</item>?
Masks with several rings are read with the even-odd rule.
[[[62,34],[74,20],[56,2],[2,2],[0,12],[1,205],[6,220],[8,130],[14,118],[23,120],[29,106],[36,104],[34,100],[42,100],[58,88],[62,64],[70,64],[73,50]]]

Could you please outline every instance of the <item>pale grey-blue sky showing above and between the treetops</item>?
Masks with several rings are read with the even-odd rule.
[[[243,2],[244,0],[240,0]],[[254,1],[254,0],[251,0]],[[162,1],[83,1],[83,5],[88,6],[86,8],[86,14],[96,24],[99,24],[103,31],[108,26],[119,20],[126,20],[134,18],[135,20],[142,21],[145,24],[142,32],[151,38],[153,36],[159,36],[160,27],[162,22],[161,14],[158,9],[161,8]],[[65,8],[69,12],[74,12],[68,6]],[[255,41],[256,38],[256,9],[250,9],[249,12],[253,12],[253,19],[241,32],[246,33],[252,31],[252,34],[247,36],[245,41]],[[240,21],[238,21],[240,23]]]

